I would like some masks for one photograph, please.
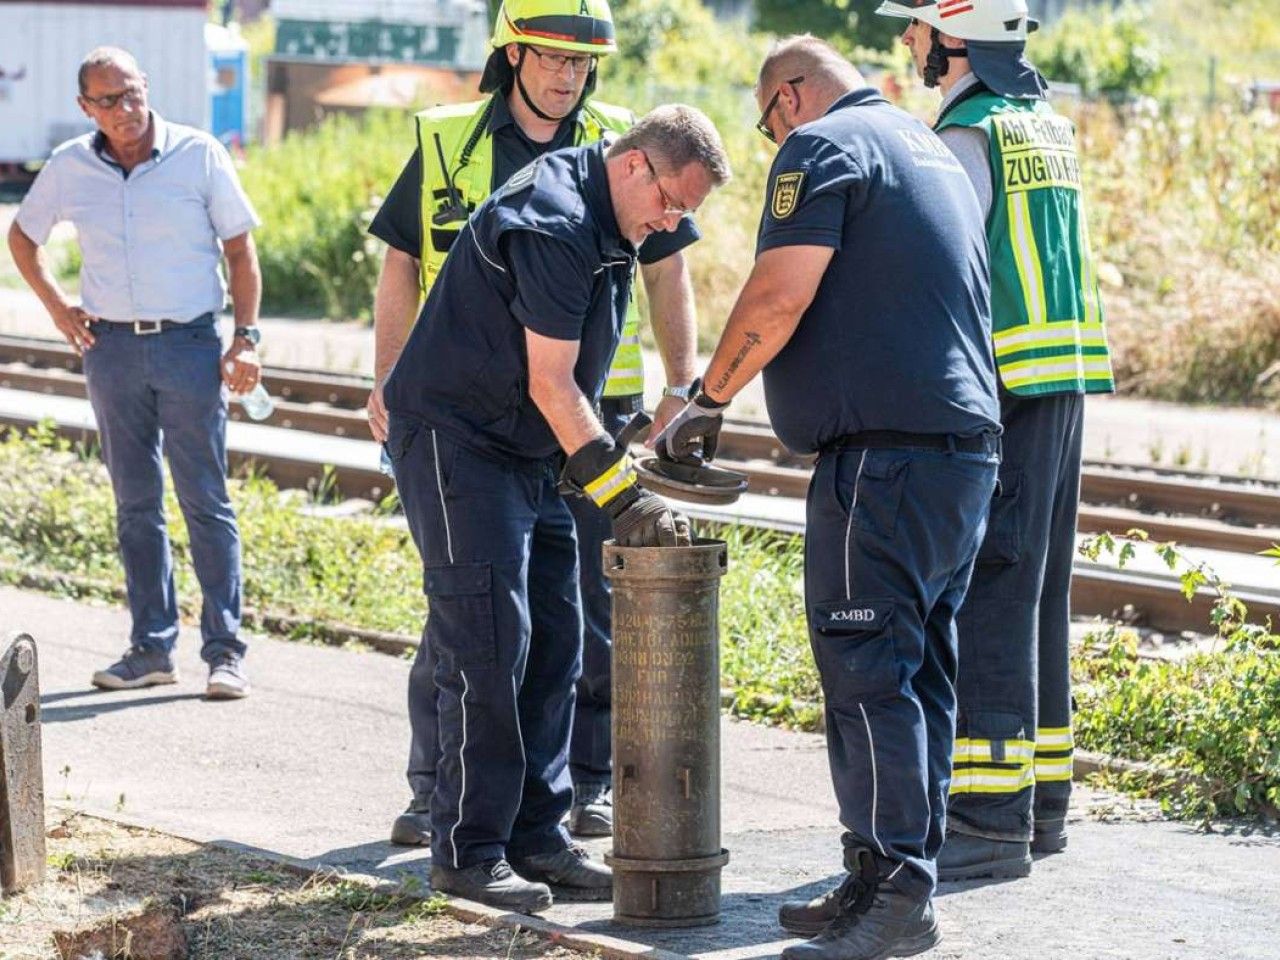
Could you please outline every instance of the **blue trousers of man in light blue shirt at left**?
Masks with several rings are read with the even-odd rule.
[[[243,655],[241,540],[227,495],[227,394],[214,317],[148,334],[105,320],[91,330],[96,342],[84,351],[84,381],[115,495],[129,641],[168,652],[178,639],[163,452],[200,581],[201,657]]]

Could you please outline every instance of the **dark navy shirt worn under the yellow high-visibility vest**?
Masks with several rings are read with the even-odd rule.
[[[582,125],[581,110],[575,110],[556,128],[556,136],[540,143],[530,140],[511,115],[511,106],[504,95],[493,99],[493,111],[489,114],[489,134],[493,137],[493,183],[489,189],[498,189],[516,170],[522,169],[543,154],[573,146],[579,128]],[[378,209],[369,232],[384,243],[396,247],[411,257],[422,255],[422,154],[415,150],[404,164],[396,183],[392,184],[387,200]],[[681,218],[680,225],[671,232],[659,230],[645,237],[640,244],[640,262],[655,264],[672,253],[677,253],[690,243],[701,238],[694,218]]]

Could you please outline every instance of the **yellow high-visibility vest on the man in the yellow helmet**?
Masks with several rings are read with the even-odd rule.
[[[435,136],[440,137],[440,147],[453,178],[453,187],[470,216],[493,189],[493,136],[488,129],[479,132],[466,163],[462,161],[462,154],[479,124],[488,124],[488,111],[485,110],[488,104],[489,100],[449,104],[417,114],[417,145],[422,164],[421,285],[424,297],[431,289],[435,278],[439,276],[449,247],[466,223],[466,219],[461,216],[435,223],[435,215],[445,210],[449,202],[445,174],[440,169],[440,154],[435,148]],[[573,143],[575,146],[594,143],[608,132],[622,133],[632,123],[634,118],[630,111],[591,101],[581,110]],[[609,366],[609,374],[604,381],[604,396],[632,397],[640,393],[644,393],[640,310],[632,300],[627,310],[626,324],[622,326],[622,339],[613,355],[613,364]]]

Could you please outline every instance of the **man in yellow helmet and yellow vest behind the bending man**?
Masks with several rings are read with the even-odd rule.
[[[605,0],[506,0],[490,46],[480,81],[481,92],[489,96],[417,115],[417,150],[370,225],[370,232],[388,243],[374,306],[378,383],[399,356],[420,297],[431,289],[468,214],[490,191],[541,154],[616,137],[634,120],[630,110],[594,97],[598,60],[617,50]],[[655,411],[659,426],[680,410],[694,379],[696,324],[681,250],[698,236],[692,219],[685,218],[673,232],[650,237],[640,250],[640,271],[668,384]],[[641,410],[639,320],[632,303],[600,398],[600,419],[613,436]],[[370,394],[369,415],[374,438],[384,440],[387,413],[380,387]],[[570,831],[604,836],[613,828],[612,631],[600,544],[611,531],[607,518],[585,500],[571,498],[570,509],[577,526],[584,616],[582,677],[570,754],[575,791]],[[438,755],[434,669],[429,645],[420,645],[408,684],[407,776],[413,796],[392,826],[394,844],[430,840]]]

